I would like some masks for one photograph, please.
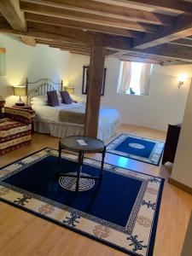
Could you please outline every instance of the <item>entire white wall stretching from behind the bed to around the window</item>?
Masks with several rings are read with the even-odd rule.
[[[42,78],[61,81],[75,86],[75,99],[85,101],[82,96],[83,66],[90,58],[84,55],[71,55],[60,49],[38,44],[27,46],[19,38],[0,34],[0,47],[7,49],[7,74],[0,77],[0,95],[8,96],[7,85],[25,83],[28,79]],[[181,122],[189,90],[189,80],[179,90],[177,75],[188,73],[192,77],[192,66],[160,67],[154,66],[148,96],[117,94],[120,61],[113,58],[106,60],[108,68],[105,96],[102,105],[117,108],[122,116],[122,123],[143,125],[166,131],[167,124]],[[6,102],[13,105],[15,96],[7,97]]]

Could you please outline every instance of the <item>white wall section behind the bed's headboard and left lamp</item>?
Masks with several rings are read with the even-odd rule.
[[[6,76],[0,76],[0,95],[9,96],[8,85],[25,84],[30,81],[49,78],[55,82],[67,79],[69,53],[60,49],[49,48],[38,44],[28,46],[19,38],[0,34],[0,46],[6,48]],[[16,97],[7,97],[6,102],[12,105]]]

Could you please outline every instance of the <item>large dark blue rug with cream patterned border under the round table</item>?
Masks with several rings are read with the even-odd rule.
[[[56,177],[58,152],[44,148],[0,170],[0,200],[129,255],[153,255],[164,179],[104,165],[102,183]],[[62,153],[62,172],[77,172],[77,156]],[[101,162],[84,159],[97,176]]]

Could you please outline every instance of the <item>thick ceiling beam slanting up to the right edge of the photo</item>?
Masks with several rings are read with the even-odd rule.
[[[171,28],[160,27],[159,31],[152,34],[145,34],[143,38],[135,39],[133,47],[146,49],[159,44],[172,42],[178,38],[186,38],[192,35],[192,15],[180,15]]]

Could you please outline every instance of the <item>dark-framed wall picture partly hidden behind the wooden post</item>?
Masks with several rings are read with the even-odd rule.
[[[102,82],[102,93],[101,96],[104,96],[105,92],[105,78],[106,78],[107,68],[104,68],[104,77]],[[82,94],[87,94],[89,88],[89,78],[90,78],[90,66],[83,67],[83,84],[82,84]]]

